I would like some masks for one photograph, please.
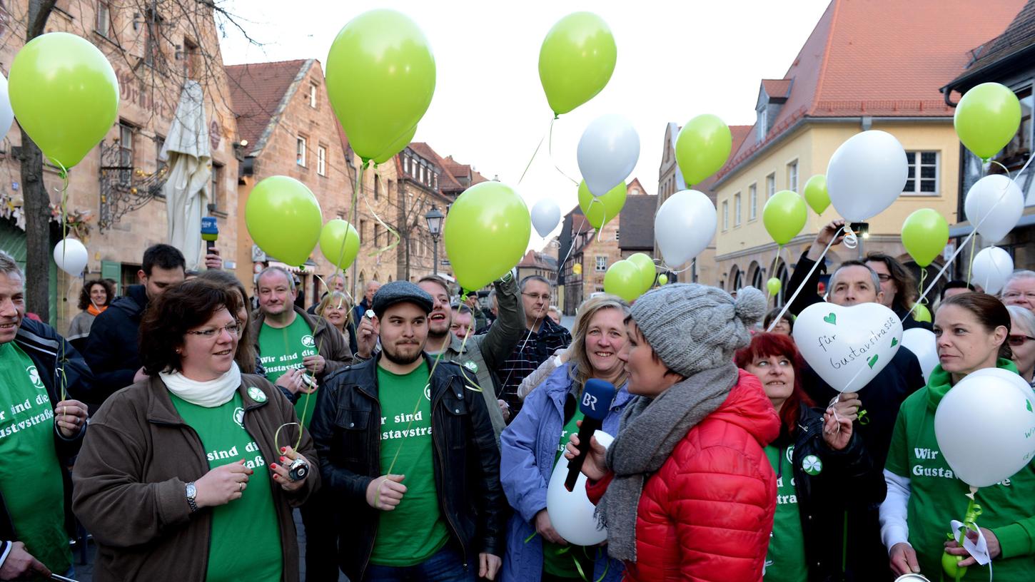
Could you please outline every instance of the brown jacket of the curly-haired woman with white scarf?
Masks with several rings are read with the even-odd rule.
[[[257,402],[247,389],[266,395]],[[259,445],[267,465],[279,457],[273,436],[285,423],[298,422],[295,409],[265,378],[243,374],[238,389],[244,400],[244,428]],[[112,395],[90,420],[89,435],[76,461],[72,510],[97,542],[94,580],[178,580],[203,582],[208,568],[212,514],[190,513],[185,486],[208,472],[201,440],[176,412],[158,377],[137,382]],[[297,427],[277,436],[294,443]],[[318,467],[308,431],[299,453]],[[264,476],[264,472],[266,473]],[[270,479],[258,469],[252,479]],[[320,471],[305,486],[287,493],[273,484],[273,504],[280,526],[282,580],[298,580],[298,545],[292,508],[320,486]]]

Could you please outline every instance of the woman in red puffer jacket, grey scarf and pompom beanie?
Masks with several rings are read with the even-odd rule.
[[[764,448],[779,420],[733,355],[765,309],[753,287],[734,300],[681,283],[632,304],[620,359],[635,398],[610,448],[590,439],[582,467],[624,580],[762,579],[776,511]],[[571,435],[568,459],[578,443]]]

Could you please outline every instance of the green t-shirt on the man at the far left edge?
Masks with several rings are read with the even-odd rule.
[[[0,344],[0,491],[17,540],[52,572],[71,564],[54,409],[32,360]]]

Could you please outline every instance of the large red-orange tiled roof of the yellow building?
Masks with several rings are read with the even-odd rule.
[[[833,0],[783,75],[793,81],[791,93],[766,139],[744,140],[717,179],[802,118],[952,117],[939,89],[964,69],[970,49],[999,34],[1024,4]]]

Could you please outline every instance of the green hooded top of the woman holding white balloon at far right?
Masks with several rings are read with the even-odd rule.
[[[967,484],[956,479],[945,462],[935,438],[935,409],[928,406],[928,393],[936,378],[942,375],[947,374],[941,371],[941,366],[936,366],[931,384],[903,402],[885,465],[887,470],[910,480],[909,542],[916,550],[920,573],[931,580],[942,575],[941,559],[949,522],[964,519],[970,493]],[[935,399],[940,400],[937,396]],[[1003,530],[997,528],[1035,516],[1033,492],[1035,467],[1031,463],[1010,479],[978,490],[976,499],[982,513],[977,524],[996,532],[1004,542],[1004,550],[1009,548]],[[992,566],[997,582],[1035,580],[1035,559],[1031,555],[997,558]],[[971,565],[963,579],[988,580],[988,569]]]

